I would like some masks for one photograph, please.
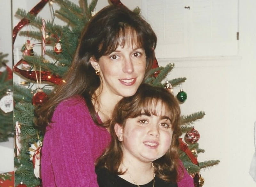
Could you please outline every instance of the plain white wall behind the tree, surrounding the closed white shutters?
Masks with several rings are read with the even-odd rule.
[[[3,4],[3,1],[0,2]],[[74,2],[78,1],[74,0]],[[141,5],[141,0],[122,2],[130,8]],[[27,7],[29,11],[35,4],[35,1],[31,0],[15,0],[13,11],[15,12],[17,7]],[[96,9],[100,10],[107,4],[107,1],[99,0]],[[236,58],[175,60],[176,68],[170,74],[170,78],[187,77],[187,81],[182,84],[188,94],[187,101],[181,105],[183,114],[200,110],[206,113],[206,116],[195,124],[201,135],[198,143],[205,149],[205,153],[199,154],[198,160],[218,159],[220,164],[201,172],[205,179],[205,187],[256,186],[248,173],[254,153],[253,124],[256,120],[255,7],[254,0],[240,1],[239,55]],[[44,9],[40,12],[41,16],[43,12],[47,12],[49,6],[45,6]],[[8,15],[8,11],[10,10],[7,6],[1,14]],[[2,21],[4,20],[1,19]],[[4,29],[0,30],[0,43],[2,38],[10,36],[11,31],[7,29],[11,27],[10,24],[11,21],[7,21],[4,23]],[[20,45],[24,44],[22,42]],[[11,48],[11,46],[3,47],[2,44],[0,47]],[[159,59],[160,65],[166,63],[169,61]],[[177,93],[178,90],[176,89],[175,92]],[[0,160],[2,160],[1,156]]]

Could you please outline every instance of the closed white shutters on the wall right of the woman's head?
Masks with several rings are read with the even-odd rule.
[[[157,58],[237,55],[238,0],[142,0],[141,13]]]

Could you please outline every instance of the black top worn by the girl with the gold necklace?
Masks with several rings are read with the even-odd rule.
[[[107,168],[96,168],[97,181],[99,187],[138,187],[116,174],[112,174]],[[141,174],[143,177],[143,174]],[[139,185],[140,187],[153,187],[153,180],[147,184]],[[167,183],[155,176],[155,187],[178,187],[177,183]]]

